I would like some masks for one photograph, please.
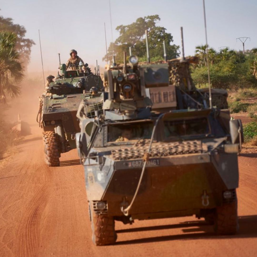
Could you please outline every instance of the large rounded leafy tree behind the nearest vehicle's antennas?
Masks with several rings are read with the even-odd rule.
[[[149,32],[148,43],[151,58],[163,59],[163,40],[166,42],[167,58],[178,57],[179,46],[171,44],[173,36],[167,33],[164,27],[156,26],[158,21],[160,21],[159,15],[150,15],[144,18],[140,17],[129,25],[117,26],[116,30],[120,36],[109,45],[108,59],[111,59],[113,51],[116,62],[123,62],[123,52],[128,53],[128,49],[131,47],[132,54],[137,55],[140,60],[146,60],[145,30]],[[106,60],[106,56],[103,60]]]

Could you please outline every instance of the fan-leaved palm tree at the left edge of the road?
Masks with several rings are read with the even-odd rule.
[[[0,32],[0,103],[6,103],[6,95],[20,94],[20,83],[24,77],[24,67],[20,54],[15,49],[17,36],[11,31]]]

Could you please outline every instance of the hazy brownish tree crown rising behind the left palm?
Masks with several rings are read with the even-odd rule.
[[[0,9],[1,10],[1,9]],[[12,18],[4,18],[0,15],[0,31],[12,31],[17,35],[16,50],[21,54],[21,60],[26,66],[30,60],[31,47],[34,41],[24,38],[26,29],[24,26],[14,24]]]

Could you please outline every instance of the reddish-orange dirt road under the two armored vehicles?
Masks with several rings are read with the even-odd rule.
[[[96,247],[76,150],[49,168],[32,133],[0,166],[0,256],[257,256],[257,154],[239,158],[237,235],[217,237],[194,217],[116,222],[117,244]]]

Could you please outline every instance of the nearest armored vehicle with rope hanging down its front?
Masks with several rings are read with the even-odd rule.
[[[93,242],[113,244],[115,221],[191,215],[236,233],[241,122],[208,108],[190,76],[195,58],[129,61],[106,71],[102,112],[78,115]]]

